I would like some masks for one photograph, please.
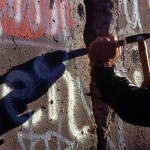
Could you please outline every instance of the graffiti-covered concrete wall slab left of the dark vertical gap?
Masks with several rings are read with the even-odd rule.
[[[85,16],[82,0],[0,2],[1,150],[96,147]]]

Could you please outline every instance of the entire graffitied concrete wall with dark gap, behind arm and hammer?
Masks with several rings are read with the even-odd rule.
[[[101,94],[80,48],[108,33],[148,33],[149,11],[149,0],[0,2],[0,149],[148,150],[149,128],[86,95]],[[117,68],[140,85],[137,45],[124,49]]]

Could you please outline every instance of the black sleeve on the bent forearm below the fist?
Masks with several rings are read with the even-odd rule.
[[[97,68],[94,78],[104,100],[125,122],[150,126],[150,89],[117,76],[111,67]]]

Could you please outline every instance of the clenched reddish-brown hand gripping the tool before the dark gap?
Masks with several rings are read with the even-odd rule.
[[[97,37],[88,49],[91,67],[98,62],[107,62],[110,66],[120,56],[121,50],[117,43],[117,39],[113,35],[106,37]]]

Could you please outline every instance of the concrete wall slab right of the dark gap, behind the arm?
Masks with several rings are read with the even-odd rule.
[[[118,1],[117,5],[114,7],[114,12],[116,12],[116,17],[113,19],[114,27],[112,27],[112,29],[116,28],[118,38],[121,39],[125,36],[139,33],[150,33],[150,17],[148,15],[150,12],[150,5],[148,0]],[[112,29],[111,32],[113,32]],[[150,40],[146,40],[146,43],[149,53]],[[124,66],[118,63],[118,70],[122,75],[127,75],[134,84],[140,86],[143,81],[143,75],[137,43],[125,45],[124,49]],[[121,62],[123,64],[123,58]],[[124,123],[118,117],[115,117],[115,124],[111,124],[110,128],[113,130],[115,128],[115,132],[117,133],[117,136],[111,136],[113,139],[111,140],[112,143],[114,143],[114,141],[118,143],[115,142],[116,144],[114,144],[117,149],[149,149],[149,128]],[[110,130],[111,134],[113,130]]]

